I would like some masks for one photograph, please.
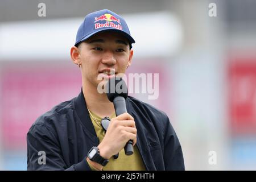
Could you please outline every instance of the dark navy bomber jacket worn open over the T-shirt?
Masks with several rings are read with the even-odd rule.
[[[146,169],[184,170],[181,146],[167,115],[133,97],[127,97],[126,109],[134,118],[137,147]],[[27,169],[90,170],[86,156],[98,144],[81,92],[53,107],[31,126],[27,133]],[[46,164],[39,164],[39,151],[45,152]]]

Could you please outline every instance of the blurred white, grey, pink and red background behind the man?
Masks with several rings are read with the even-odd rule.
[[[79,94],[69,50],[84,16],[100,9],[122,15],[137,42],[128,73],[159,73],[157,100],[131,95],[167,113],[185,168],[255,170],[254,0],[1,0],[0,169],[26,170],[32,123]]]

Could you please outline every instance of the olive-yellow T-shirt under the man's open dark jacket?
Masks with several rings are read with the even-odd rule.
[[[91,113],[93,115],[90,115],[90,119],[92,120],[94,129],[96,131],[97,137],[100,139],[100,142],[102,142],[104,136],[105,136],[105,131],[101,126],[101,119],[98,115],[92,113],[92,111],[89,111],[89,113]],[[114,118],[115,117],[115,113],[110,117],[110,118]],[[103,167],[104,171],[144,171],[145,166],[141,157],[141,154],[139,153],[139,150],[135,144],[135,146],[133,147],[134,149],[134,153],[133,155],[125,155],[125,150],[121,150],[119,152],[119,156],[117,159],[114,159],[113,156],[109,159],[109,163],[106,164],[106,166]],[[90,168],[92,170],[95,170],[92,165],[90,165]]]

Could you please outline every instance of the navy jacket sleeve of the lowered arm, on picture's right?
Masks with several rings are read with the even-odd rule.
[[[164,166],[166,170],[184,171],[184,159],[179,139],[168,117],[166,121],[164,127]]]

